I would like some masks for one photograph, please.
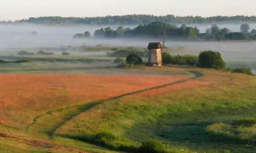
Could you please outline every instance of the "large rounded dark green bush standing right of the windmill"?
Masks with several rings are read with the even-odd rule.
[[[198,67],[223,69],[225,66],[226,63],[223,61],[220,52],[214,52],[212,50],[205,50],[204,52],[200,52]]]

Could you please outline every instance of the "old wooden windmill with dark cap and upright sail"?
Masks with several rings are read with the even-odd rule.
[[[165,41],[165,31],[164,31],[163,47],[162,47],[162,44],[159,42],[148,43],[148,54],[145,59],[145,62],[148,59],[147,66],[162,66],[164,41]]]

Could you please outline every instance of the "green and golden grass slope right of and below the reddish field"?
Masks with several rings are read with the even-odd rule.
[[[211,69],[187,70],[200,77],[195,81],[210,84],[180,90],[166,88],[184,83],[180,81],[51,110],[35,116],[26,131],[0,125],[2,133],[22,138],[15,146],[17,140],[0,136],[3,145],[0,150],[111,152],[106,149],[109,148],[127,152],[254,152],[255,77]],[[159,89],[164,90],[151,95],[150,91]],[[49,145],[25,143],[34,139]]]

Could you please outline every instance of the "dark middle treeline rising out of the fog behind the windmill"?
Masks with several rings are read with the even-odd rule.
[[[166,24],[164,22],[152,22],[150,24],[140,24],[134,29],[124,28],[119,26],[116,30],[111,27],[105,29],[97,29],[93,36],[95,38],[158,38],[163,37],[164,31],[166,32],[166,38],[173,39],[189,39],[189,40],[255,40],[256,29],[250,31],[248,24],[242,24],[240,26],[241,31],[234,33],[227,27],[220,28],[216,24],[212,24],[205,32],[200,33],[197,27],[188,27],[182,24],[180,27],[174,24]],[[84,33],[85,34],[85,33]],[[76,34],[77,38],[84,38],[84,34]],[[86,31],[87,36],[90,33]],[[87,37],[86,37],[87,38]]]

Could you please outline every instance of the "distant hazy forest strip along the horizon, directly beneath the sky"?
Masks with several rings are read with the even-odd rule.
[[[172,24],[209,24],[216,22],[256,22],[256,16],[216,16],[216,17],[180,17],[174,15],[154,16],[154,15],[122,15],[106,17],[31,17],[28,19],[16,20],[14,23],[32,24],[88,24],[88,25],[138,25],[150,24],[152,22],[164,22]],[[3,23],[13,23],[12,21],[2,21]]]

